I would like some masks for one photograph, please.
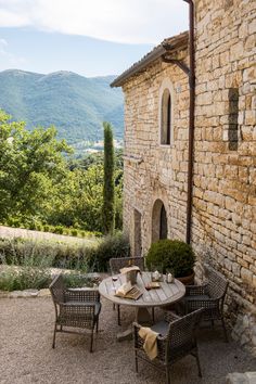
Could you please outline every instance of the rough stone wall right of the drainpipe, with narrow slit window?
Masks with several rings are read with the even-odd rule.
[[[195,11],[192,244],[201,264],[229,279],[233,335],[256,353],[256,2],[195,0]],[[235,150],[230,89],[239,94]]]

